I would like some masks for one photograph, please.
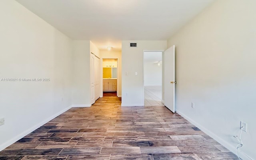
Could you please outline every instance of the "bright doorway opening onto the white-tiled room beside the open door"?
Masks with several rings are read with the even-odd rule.
[[[164,106],[162,102],[162,52],[144,52],[144,106]]]

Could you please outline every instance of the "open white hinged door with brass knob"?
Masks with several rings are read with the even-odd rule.
[[[164,106],[175,112],[175,46],[164,51]]]

